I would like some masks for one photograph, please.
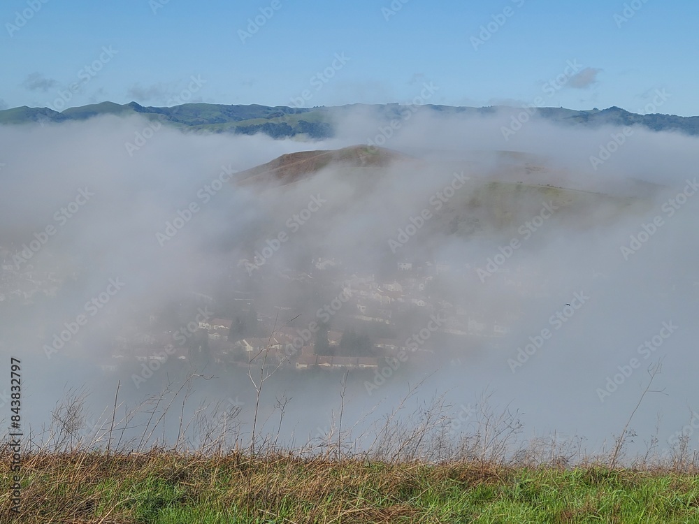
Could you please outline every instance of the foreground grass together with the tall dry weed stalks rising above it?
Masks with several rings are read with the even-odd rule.
[[[519,414],[494,411],[484,395],[457,434],[443,397],[406,410],[418,384],[371,430],[354,435],[340,409],[327,435],[284,449],[278,433],[244,432],[229,407],[182,419],[191,378],[123,414],[115,395],[96,425],[87,423],[87,393],[67,393],[50,426],[23,443],[20,514],[3,511],[0,521],[699,522],[699,460],[686,439],[666,456],[627,458],[628,422],[607,456],[587,456],[581,439],[521,442]],[[254,383],[258,395],[264,380]],[[156,435],[169,411],[179,422],[166,445]],[[192,425],[198,446],[187,437]],[[6,446],[5,486],[10,464]],[[1,507],[10,497],[0,493]]]

